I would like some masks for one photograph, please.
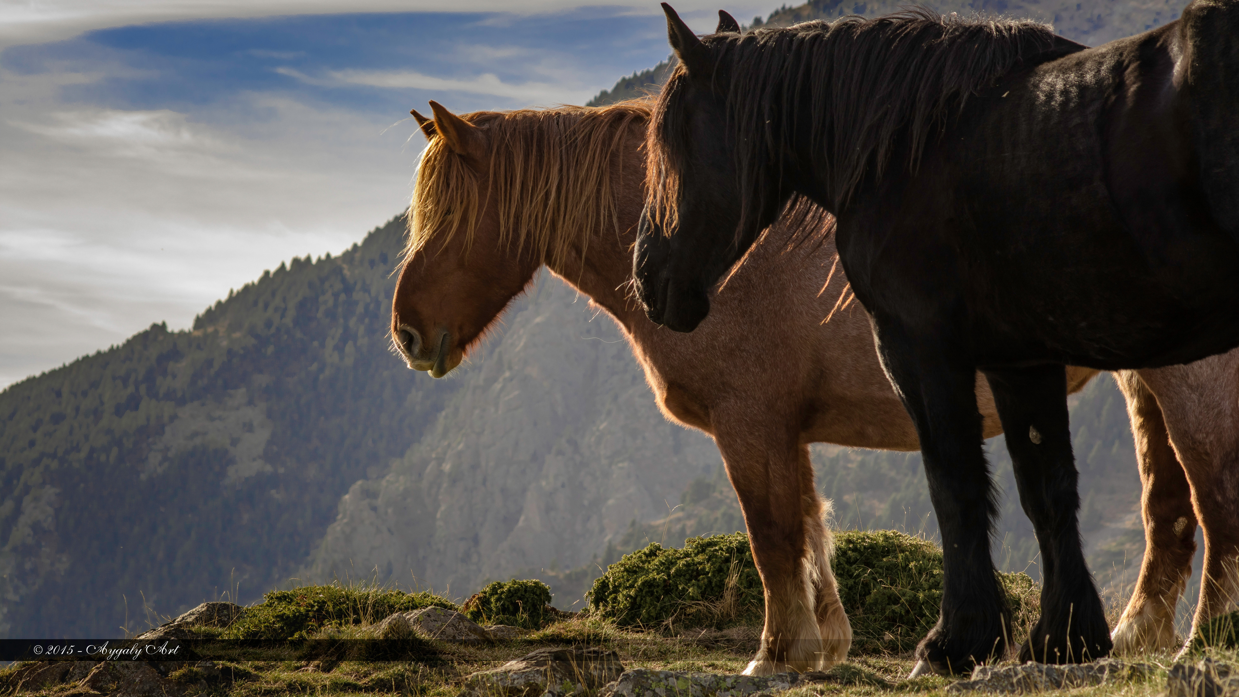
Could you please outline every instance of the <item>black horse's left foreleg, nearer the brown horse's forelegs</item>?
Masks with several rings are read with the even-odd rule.
[[[966,673],[1002,656],[1011,614],[990,556],[997,515],[981,449],[976,368],[940,334],[875,316],[878,353],[921,439],[943,547],[942,616],[917,646],[914,675]]]

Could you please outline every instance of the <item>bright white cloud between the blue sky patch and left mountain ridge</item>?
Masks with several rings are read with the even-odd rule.
[[[347,248],[406,205],[421,145],[413,125],[261,94],[196,114],[2,105],[0,387]]]

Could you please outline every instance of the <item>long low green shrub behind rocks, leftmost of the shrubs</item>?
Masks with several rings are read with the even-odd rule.
[[[431,605],[457,609],[432,593],[404,593],[382,588],[306,585],[273,590],[245,611],[223,639],[305,639],[328,626],[373,624],[395,613]]]

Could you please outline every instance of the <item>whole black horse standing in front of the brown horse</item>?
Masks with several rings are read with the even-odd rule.
[[[634,258],[649,317],[691,331],[793,195],[834,213],[942,530],[942,616],[916,672],[968,671],[1011,635],[978,370],[1042,553],[1021,660],[1108,654],[1063,366],[1239,345],[1239,0],[1100,48],[923,10],[701,40],[663,7],[680,67],[649,130]],[[736,351],[761,360],[761,341]]]

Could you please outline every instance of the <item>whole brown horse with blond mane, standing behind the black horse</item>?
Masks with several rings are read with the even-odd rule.
[[[843,661],[851,629],[808,444],[918,443],[878,365],[869,319],[849,301],[834,241],[823,234],[831,221],[800,216],[818,238],[807,243],[786,220],[773,226],[715,293],[701,326],[673,332],[646,319],[629,293],[647,104],[463,117],[431,107],[434,120],[419,115],[430,144],[392,310],[409,367],[446,375],[546,265],[620,325],[663,413],[719,445],[766,589],[762,642],[746,673]],[[1069,368],[1069,388],[1095,373]],[[1223,567],[1239,551],[1239,352],[1118,377],[1136,433],[1149,551],[1115,644],[1168,649],[1197,521],[1211,578],[1197,623],[1230,606],[1237,589]],[[980,376],[976,396],[985,437],[1001,433]]]

